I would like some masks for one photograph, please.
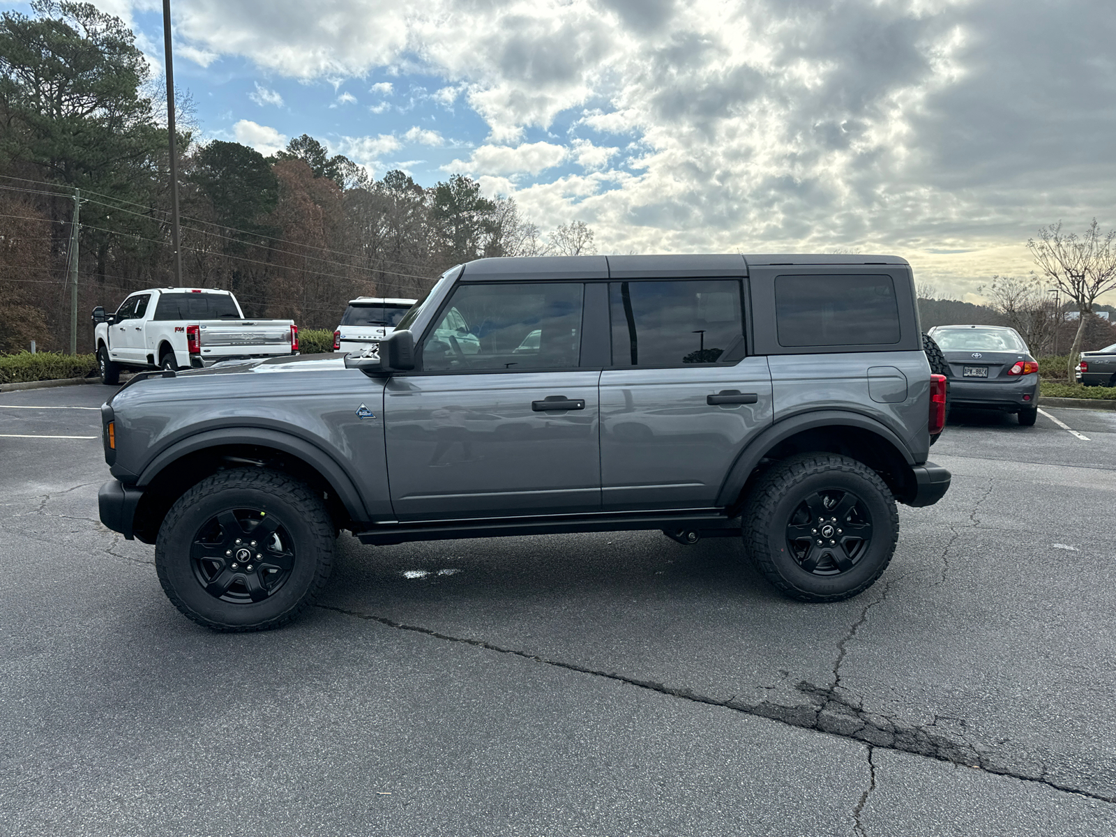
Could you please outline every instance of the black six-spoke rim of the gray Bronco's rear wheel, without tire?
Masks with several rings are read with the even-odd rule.
[[[847,573],[872,546],[872,514],[852,491],[815,491],[791,514],[787,546],[807,573]]]

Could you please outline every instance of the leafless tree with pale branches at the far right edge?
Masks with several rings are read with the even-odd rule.
[[[1085,234],[1078,238],[1076,232],[1064,234],[1059,221],[1051,227],[1040,227],[1038,241],[1028,239],[1027,249],[1042,275],[1077,304],[1077,334],[1067,363],[1072,381],[1093,304],[1101,294],[1116,289],[1116,230],[1101,234],[1094,218]]]

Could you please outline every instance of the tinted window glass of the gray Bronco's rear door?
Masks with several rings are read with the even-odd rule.
[[[608,296],[616,366],[716,363],[743,335],[735,279],[612,282]]]

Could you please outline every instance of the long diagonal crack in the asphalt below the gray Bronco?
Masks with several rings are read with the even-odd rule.
[[[866,616],[867,609],[873,605],[878,604],[881,600],[883,600],[883,597],[873,602],[865,608],[865,612],[862,614],[862,620],[858,624],[863,623],[863,618]],[[579,674],[589,674],[596,677],[614,680],[638,689],[646,689],[652,692],[657,692],[658,694],[665,694],[671,698],[693,701],[694,703],[704,703],[711,706],[731,709],[743,714],[778,721],[789,727],[798,727],[800,729],[837,735],[838,738],[865,744],[869,749],[882,748],[885,750],[910,752],[916,756],[934,759],[935,761],[943,761],[951,764],[963,764],[965,767],[979,769],[995,776],[1006,776],[1011,779],[1019,779],[1020,781],[1045,785],[1065,793],[1077,793],[1078,796],[1087,797],[1088,799],[1096,799],[1100,802],[1116,804],[1116,797],[1108,797],[1101,793],[1094,793],[1088,790],[1060,785],[1049,779],[1045,769],[1039,775],[1028,776],[1026,773],[1012,771],[1007,766],[998,764],[991,754],[978,751],[972,744],[958,743],[956,741],[951,740],[947,735],[933,729],[939,720],[950,720],[946,716],[935,716],[934,722],[931,724],[906,724],[894,718],[866,712],[862,708],[853,705],[834,694],[834,686],[822,689],[805,681],[796,684],[795,689],[801,695],[807,698],[808,705],[799,704],[787,706],[770,701],[750,704],[737,701],[735,699],[719,700],[709,695],[699,694],[698,692],[689,689],[674,689],[665,685],[664,683],[639,680],[637,677],[631,677],[617,672],[589,668],[588,666],[578,665],[577,663],[568,663],[561,660],[543,657],[538,654],[530,654],[526,651],[504,648],[500,645],[485,642],[484,639],[451,636],[432,628],[422,627],[420,625],[407,625],[402,622],[396,622],[395,619],[388,619],[384,616],[364,614],[345,607],[336,607],[334,605],[318,604],[315,606],[323,610],[333,610],[334,613],[339,613],[344,616],[352,616],[365,622],[375,622],[396,631],[408,631],[416,634],[424,634],[435,639],[445,639],[446,642],[472,645],[473,647],[493,651],[499,654],[509,654],[511,656],[522,657],[523,660],[530,660],[532,662],[550,665],[556,668],[565,668],[566,671],[577,672]],[[961,724],[964,725],[964,721],[961,721]],[[872,787],[874,787],[874,785]],[[865,800],[866,799],[867,797],[865,797]]]

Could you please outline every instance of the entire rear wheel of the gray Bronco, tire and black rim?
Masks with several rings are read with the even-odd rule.
[[[764,473],[744,504],[744,547],[789,598],[839,602],[863,593],[895,552],[891,490],[848,456],[807,453]]]

